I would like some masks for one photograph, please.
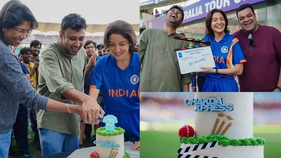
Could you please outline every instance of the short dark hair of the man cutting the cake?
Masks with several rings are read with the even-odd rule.
[[[87,24],[85,18],[76,13],[68,14],[64,16],[61,20],[60,31],[64,32],[67,28],[72,30],[87,29]]]

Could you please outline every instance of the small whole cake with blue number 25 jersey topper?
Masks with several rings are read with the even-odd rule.
[[[124,151],[124,132],[121,127],[115,127],[117,119],[113,115],[103,118],[105,127],[96,130],[96,144],[99,158],[129,158],[130,155]]]

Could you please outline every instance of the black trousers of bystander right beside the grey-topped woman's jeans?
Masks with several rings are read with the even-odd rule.
[[[19,104],[17,115],[16,115],[16,121],[13,125],[14,137],[19,153],[29,153],[28,152],[29,145],[27,140],[27,133],[28,133],[27,126],[28,126],[27,107],[25,107],[23,104]],[[9,154],[11,154],[11,152],[12,152],[12,141],[9,148]]]

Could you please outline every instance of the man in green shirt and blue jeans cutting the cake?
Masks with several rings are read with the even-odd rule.
[[[95,100],[83,93],[87,54],[82,48],[86,21],[78,14],[63,17],[59,40],[42,50],[39,66],[38,92],[51,99],[69,104],[93,104]],[[98,105],[98,104],[96,104]],[[94,104],[92,105],[94,106]],[[99,122],[104,111],[96,106]],[[80,116],[68,112],[37,110],[38,132],[42,155],[71,151],[79,148]]]

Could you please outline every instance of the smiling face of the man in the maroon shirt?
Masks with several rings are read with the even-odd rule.
[[[256,16],[250,8],[243,9],[237,13],[240,26],[248,33],[253,33],[257,30]]]

